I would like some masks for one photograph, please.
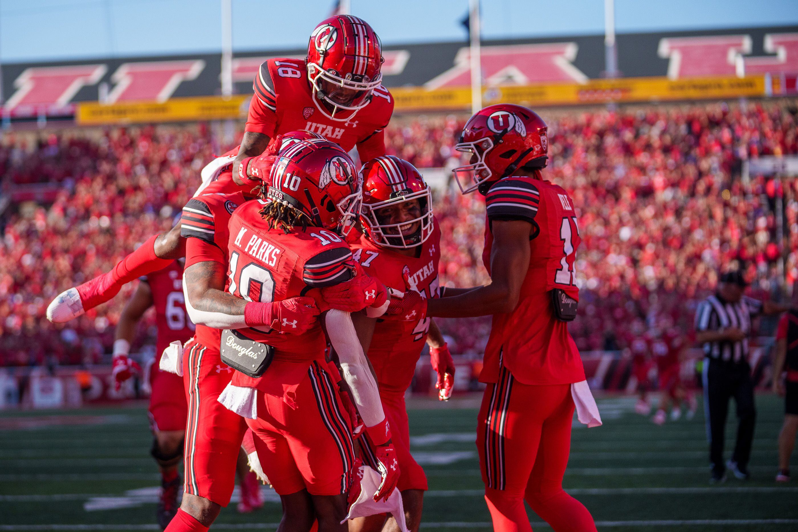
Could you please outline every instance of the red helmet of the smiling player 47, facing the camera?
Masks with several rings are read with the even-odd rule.
[[[395,156],[370,160],[361,169],[363,176],[363,207],[361,222],[365,234],[379,246],[415,247],[433,233],[433,196],[416,167]],[[416,199],[420,215],[402,223],[381,220],[380,209]],[[418,224],[412,234],[404,234],[401,227]]]

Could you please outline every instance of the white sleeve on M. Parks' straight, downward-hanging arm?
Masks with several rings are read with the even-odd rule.
[[[385,412],[382,412],[380,392],[369,369],[369,361],[365,358],[358,334],[355,333],[350,313],[330,309],[325,322],[330,344],[333,345],[335,353],[338,353],[342,376],[350,386],[354,404],[358,407],[363,423],[366,427],[381,423],[385,420]]]

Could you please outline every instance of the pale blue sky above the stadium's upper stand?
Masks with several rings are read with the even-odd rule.
[[[306,45],[332,0],[232,0],[236,50]],[[464,39],[468,0],[350,0],[386,44]],[[218,51],[219,0],[0,0],[0,61]],[[798,24],[798,0],[615,0],[618,32]],[[602,0],[483,0],[483,37],[601,33]]]

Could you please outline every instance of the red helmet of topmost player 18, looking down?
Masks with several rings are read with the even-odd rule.
[[[371,92],[382,83],[380,37],[352,15],[335,15],[316,26],[305,61],[314,104],[332,120],[352,118],[369,104]]]

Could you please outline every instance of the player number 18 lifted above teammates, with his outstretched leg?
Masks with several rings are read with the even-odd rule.
[[[316,132],[346,152],[357,146],[361,160],[385,155],[383,128],[393,97],[381,85],[381,66],[379,37],[366,22],[350,15],[321,22],[305,61],[277,58],[260,66],[242,144],[205,167],[199,191],[250,191],[271,165],[258,157],[269,141],[298,129]],[[59,294],[47,318],[63,323],[109,301],[124,284],[184,257],[185,246],[179,229],[148,238],[113,270]]]

